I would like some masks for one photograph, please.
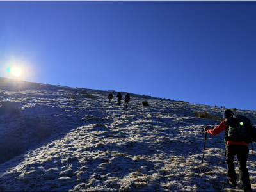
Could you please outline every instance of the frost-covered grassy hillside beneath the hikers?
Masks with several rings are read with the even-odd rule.
[[[11,141],[19,154],[0,164],[0,191],[243,191],[226,184],[222,132],[207,135],[200,172],[201,128],[220,122],[196,118],[193,111],[222,116],[225,108],[131,94],[125,109],[114,91],[1,77],[0,89],[1,102],[21,109],[20,115],[0,115],[1,145]],[[256,125],[256,111],[234,113]],[[255,191],[253,146],[248,170]]]

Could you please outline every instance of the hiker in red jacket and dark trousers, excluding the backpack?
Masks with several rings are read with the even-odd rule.
[[[252,191],[250,179],[249,179],[249,172],[246,168],[247,158],[249,154],[249,149],[247,143],[244,141],[235,142],[230,141],[228,136],[228,125],[225,125],[228,118],[231,116],[234,116],[234,113],[227,109],[223,113],[223,122],[220,123],[217,127],[214,127],[214,129],[209,129],[209,127],[204,127],[204,133],[207,132],[212,135],[219,134],[221,131],[225,132],[225,147],[226,147],[226,161],[227,161],[227,170],[228,170],[228,184],[231,186],[236,186],[236,172],[234,168],[234,156],[237,155],[237,163],[239,168],[239,179],[241,182],[241,186],[244,190],[244,192],[250,192]]]

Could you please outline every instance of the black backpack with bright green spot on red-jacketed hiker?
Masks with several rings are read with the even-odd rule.
[[[224,122],[228,125],[228,131],[225,134],[225,140],[252,143],[256,142],[256,129],[251,124],[250,119],[242,115],[234,115]]]

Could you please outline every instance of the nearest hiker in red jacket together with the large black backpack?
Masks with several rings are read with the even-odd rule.
[[[251,192],[251,183],[249,172],[246,168],[247,158],[249,154],[248,143],[255,141],[256,129],[250,125],[250,120],[245,116],[234,115],[233,111],[227,109],[223,113],[224,120],[220,125],[210,129],[208,126],[202,130],[205,134],[220,134],[225,131],[225,157],[227,162],[228,184],[236,186],[236,172],[234,168],[234,157],[237,156],[239,168],[239,179],[244,192]],[[204,157],[204,156],[203,156]]]

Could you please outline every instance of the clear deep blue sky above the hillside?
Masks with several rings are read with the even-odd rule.
[[[0,1],[0,66],[1,77],[256,110],[256,1]]]

